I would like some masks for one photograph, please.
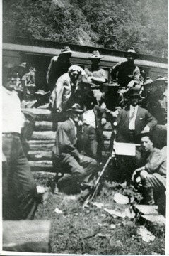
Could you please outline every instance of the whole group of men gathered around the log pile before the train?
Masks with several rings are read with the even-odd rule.
[[[103,127],[109,121],[112,124],[110,150],[114,141],[141,144],[135,156],[117,156],[122,181],[132,181],[138,187],[141,184],[145,187],[145,203],[155,203],[153,193],[165,191],[166,151],[153,147],[151,132],[162,121],[154,117],[157,111],[152,99],[159,103],[156,110],[165,109],[166,113],[167,80],[158,78],[158,82],[163,81],[163,89],[159,90],[155,81],[156,90],[148,94],[148,88],[154,87],[153,81],[147,82],[148,78],[144,82],[134,64],[138,55],[130,48],[125,53],[127,61],[112,68],[112,83],[104,92],[107,75],[99,67],[103,56],[95,50],[88,58],[91,68],[83,70],[71,65],[72,53],[68,46],[62,48],[59,56],[52,58],[47,71],[50,90],[47,107],[52,111],[56,131],[52,161],[57,174],[62,174],[55,178],[57,188],[64,193],[82,191],[83,194],[93,186],[103,161]],[[3,218],[31,219],[42,201],[42,191],[37,191],[21,144],[23,114],[16,92],[19,72],[16,70],[4,67],[3,73]]]

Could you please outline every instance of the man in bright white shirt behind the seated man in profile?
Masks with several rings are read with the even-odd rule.
[[[102,161],[103,125],[106,124],[105,111],[95,104],[91,91],[86,96],[83,113],[83,151],[87,156]]]

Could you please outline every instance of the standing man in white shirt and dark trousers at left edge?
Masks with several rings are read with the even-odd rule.
[[[40,198],[21,144],[23,114],[13,68],[3,70],[3,219],[33,219]]]

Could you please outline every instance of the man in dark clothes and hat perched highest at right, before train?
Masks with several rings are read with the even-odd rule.
[[[127,61],[117,63],[112,68],[111,76],[112,80],[117,80],[122,87],[127,87],[129,82],[133,85],[134,83],[141,83],[141,74],[139,68],[134,64],[134,60],[139,57],[134,48],[129,48],[127,52],[124,53],[124,57]]]

